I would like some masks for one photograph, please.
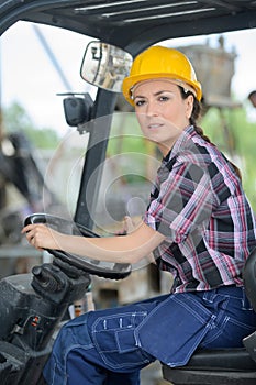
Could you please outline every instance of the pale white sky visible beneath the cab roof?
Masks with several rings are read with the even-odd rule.
[[[79,75],[86,45],[91,37],[65,30],[41,25],[40,31],[62,68],[71,91],[89,91],[94,96],[94,87],[86,84]],[[172,40],[168,45],[205,44],[218,46],[220,35]],[[246,103],[249,91],[256,89],[256,29],[224,35],[227,52],[235,50],[235,75],[232,92]],[[221,81],[221,79],[220,79]],[[18,22],[0,40],[0,84],[1,106],[20,103],[35,127],[52,128],[60,135],[70,129],[64,117],[63,97],[56,94],[70,91],[62,80],[31,23]],[[251,111],[252,112],[252,111]]]

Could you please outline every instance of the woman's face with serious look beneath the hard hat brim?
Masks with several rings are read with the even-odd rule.
[[[135,112],[143,134],[156,142],[166,155],[189,125],[193,97],[185,100],[180,89],[171,80],[145,80],[133,90]]]

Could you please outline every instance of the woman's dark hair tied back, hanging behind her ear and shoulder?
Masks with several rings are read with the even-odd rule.
[[[180,89],[180,94],[182,99],[187,99],[190,95],[192,95],[193,97],[193,109],[192,109],[192,113],[191,117],[189,119],[189,122],[191,125],[193,125],[196,132],[202,138],[204,139],[204,141],[207,141],[208,143],[211,143],[213,145],[215,145],[214,143],[211,142],[210,138],[204,135],[203,130],[197,124],[197,120],[200,118],[201,116],[201,103],[200,101],[198,101],[198,99],[194,97],[194,95],[191,91],[186,91],[182,87],[178,86]],[[242,174],[240,168],[229,160],[230,164],[233,166],[235,174],[238,176],[238,178],[242,180]]]

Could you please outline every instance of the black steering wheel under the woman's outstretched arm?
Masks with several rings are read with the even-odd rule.
[[[24,226],[31,223],[45,223],[54,230],[68,235],[80,235],[89,238],[99,238],[100,235],[86,227],[59,217],[47,213],[33,213],[25,218]],[[57,258],[63,260],[71,266],[76,266],[89,274],[98,275],[104,278],[123,279],[131,273],[131,265],[126,263],[111,263],[91,260],[77,254],[66,253],[59,250],[48,250],[47,252]]]

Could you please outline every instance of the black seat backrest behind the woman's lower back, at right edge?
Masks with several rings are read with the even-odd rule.
[[[256,248],[245,263],[243,277],[247,298],[256,311]]]

